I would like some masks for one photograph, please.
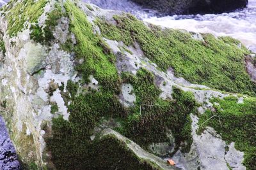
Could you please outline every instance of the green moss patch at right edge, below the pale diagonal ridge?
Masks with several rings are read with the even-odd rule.
[[[216,112],[207,110],[204,115],[200,116],[199,124],[205,122],[213,115],[204,127],[211,126],[221,134],[223,140],[236,142],[237,150],[244,152],[244,166],[247,169],[256,169],[256,99],[245,98],[243,103],[237,103],[237,97],[230,96],[225,99],[212,99]],[[202,129],[200,129],[202,131]]]

